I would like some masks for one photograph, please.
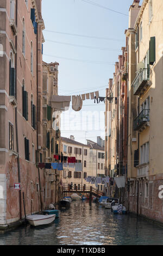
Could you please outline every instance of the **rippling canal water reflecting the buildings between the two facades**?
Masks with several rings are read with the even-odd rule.
[[[0,245],[163,245],[163,228],[131,215],[115,215],[89,202],[73,201],[45,227],[0,234]]]

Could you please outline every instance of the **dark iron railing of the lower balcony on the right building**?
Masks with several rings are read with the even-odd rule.
[[[143,109],[134,120],[134,130],[137,131],[143,124],[149,121],[149,109]]]

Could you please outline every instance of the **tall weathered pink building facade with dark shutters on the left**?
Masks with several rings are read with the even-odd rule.
[[[0,3],[0,227],[43,209],[41,0]],[[15,190],[14,184],[21,190]]]

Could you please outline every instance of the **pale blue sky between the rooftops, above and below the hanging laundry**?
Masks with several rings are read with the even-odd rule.
[[[142,1],[141,1],[142,2]],[[140,2],[140,3],[141,3]],[[59,95],[99,91],[105,97],[115,62],[125,46],[133,0],[42,0],[43,61],[59,63]],[[61,136],[97,142],[104,133],[104,102],[83,101],[82,110],[61,114]]]

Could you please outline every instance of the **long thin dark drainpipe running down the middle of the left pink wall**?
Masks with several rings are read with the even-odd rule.
[[[17,26],[17,0],[16,0],[16,26]],[[15,92],[16,92],[16,99],[17,99],[17,35],[15,37]],[[21,183],[21,175],[20,175],[20,159],[19,159],[19,149],[18,149],[18,130],[17,130],[17,107],[15,108],[15,132],[16,132],[16,150],[18,153],[17,156],[17,170],[18,170],[18,182]],[[20,210],[20,220],[22,220],[22,197],[21,197],[21,190],[19,191],[19,210]]]

